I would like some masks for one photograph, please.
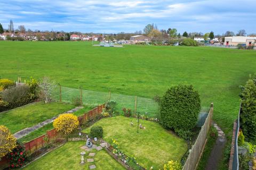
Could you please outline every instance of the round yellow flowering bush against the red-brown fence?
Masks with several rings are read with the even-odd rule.
[[[53,121],[53,127],[57,132],[68,135],[78,128],[79,121],[77,116],[69,113],[61,114]]]

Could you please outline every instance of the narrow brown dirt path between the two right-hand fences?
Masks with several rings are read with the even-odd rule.
[[[218,164],[222,158],[222,152],[225,148],[226,143],[226,137],[225,133],[220,129],[220,127],[217,124],[213,124],[214,128],[218,131],[218,138],[216,140],[216,143],[211,151],[211,155],[207,161],[207,165],[205,167],[206,170],[217,170]]]

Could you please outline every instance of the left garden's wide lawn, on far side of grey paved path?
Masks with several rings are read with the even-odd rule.
[[[39,102],[0,113],[0,125],[5,125],[11,133],[15,133],[69,111],[74,107],[74,105],[67,103],[44,104]]]

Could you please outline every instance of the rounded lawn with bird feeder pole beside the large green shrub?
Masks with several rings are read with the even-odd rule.
[[[134,123],[130,125],[131,121]],[[187,143],[162,128],[155,122],[140,120],[145,130],[137,133],[137,119],[116,116],[103,118],[93,126],[102,126],[103,139],[111,143],[115,139],[120,149],[129,156],[134,156],[138,163],[150,169],[163,168],[169,160],[181,160],[187,151]],[[91,128],[91,127],[90,127]],[[90,132],[90,128],[83,130]]]

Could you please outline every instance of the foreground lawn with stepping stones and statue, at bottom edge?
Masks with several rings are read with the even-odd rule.
[[[89,165],[96,165],[97,169],[113,170],[125,169],[121,164],[116,162],[105,150],[92,150],[96,155],[94,156],[94,163],[85,163],[81,165],[80,149],[85,145],[84,141],[68,142],[64,146],[50,152],[35,162],[29,164],[23,169],[89,169]],[[85,160],[89,158],[89,152],[86,151]],[[92,158],[92,157],[90,157]]]

